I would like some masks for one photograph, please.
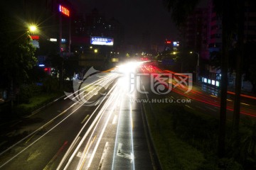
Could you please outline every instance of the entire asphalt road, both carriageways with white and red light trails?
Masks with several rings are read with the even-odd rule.
[[[0,169],[160,169],[142,103],[180,103],[218,116],[220,97],[200,84],[193,84],[186,93],[186,87],[172,81],[175,88],[169,94],[146,98],[142,92],[152,91],[154,79],[150,74],[158,77],[166,71],[149,64],[137,67],[132,63],[108,73],[93,74],[85,81],[75,82],[74,91],[79,91],[75,97],[70,94],[27,118],[1,124]],[[144,75],[138,78],[127,72],[132,69]],[[137,86],[139,81],[142,84]],[[164,81],[154,83],[159,86]],[[156,95],[159,101],[153,98]],[[227,102],[231,119],[232,96]],[[242,116],[255,118],[255,108],[255,100],[242,98]]]

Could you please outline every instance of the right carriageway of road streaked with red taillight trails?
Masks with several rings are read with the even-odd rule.
[[[170,70],[162,70],[159,67],[156,67],[152,64],[145,64],[142,66],[142,73],[144,74],[158,74],[159,81],[162,81],[162,84],[165,84],[163,80],[166,78],[165,74],[171,74],[169,80],[169,89],[168,94],[160,95],[157,98],[160,98],[159,101],[151,101],[151,98],[157,95],[151,95],[149,101],[151,103],[166,103],[166,104],[181,104],[189,109],[205,113],[207,115],[218,117],[220,109],[220,94],[219,89],[213,89],[211,86],[206,86],[205,84],[199,84],[192,82],[192,88],[188,91],[188,84],[179,84],[178,77],[185,78],[184,75],[179,75]],[[165,77],[163,77],[165,75]],[[149,79],[148,78],[146,79]],[[186,75],[185,75],[186,76]],[[146,79],[143,79],[144,86],[146,91],[151,91],[152,84],[149,81],[146,82]],[[178,81],[177,81],[178,79]],[[167,79],[166,79],[167,80]],[[165,80],[165,81],[166,81]],[[188,83],[188,79],[186,79]],[[146,83],[145,83],[146,82]],[[156,84],[159,86],[159,84]],[[168,88],[167,88],[168,89]],[[162,97],[162,98],[161,98]],[[161,101],[162,99],[162,101]],[[166,100],[167,99],[167,100]],[[240,98],[240,117],[241,118],[250,118],[255,120],[256,118],[256,98],[250,98],[250,96],[241,96]],[[228,94],[227,98],[227,119],[233,119],[233,106],[234,106],[234,95]]]

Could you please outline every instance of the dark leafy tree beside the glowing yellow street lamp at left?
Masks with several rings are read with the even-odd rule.
[[[1,86],[11,91],[28,79],[28,70],[37,62],[36,48],[23,23],[0,13],[0,77]]]

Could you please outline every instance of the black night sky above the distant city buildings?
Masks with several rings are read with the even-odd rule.
[[[178,31],[162,0],[70,0],[80,13],[90,13],[93,8],[106,19],[116,18],[125,28],[126,42],[134,43],[142,33],[151,34],[153,44],[163,44],[166,38],[177,40]]]

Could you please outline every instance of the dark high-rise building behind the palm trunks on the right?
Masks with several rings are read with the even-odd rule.
[[[244,42],[256,40],[256,8],[255,1],[245,1],[245,27],[244,27]],[[213,1],[208,1],[208,21],[206,34],[206,59],[210,60],[210,55],[213,52],[220,52],[222,47],[222,21],[220,16],[216,13],[213,6]],[[235,17],[235,16],[234,16]],[[233,34],[233,42],[237,40],[237,35]],[[234,44],[234,43],[233,43]],[[203,54],[203,51],[201,51]],[[220,70],[207,65],[207,77],[210,79],[220,79]]]

